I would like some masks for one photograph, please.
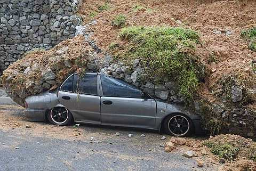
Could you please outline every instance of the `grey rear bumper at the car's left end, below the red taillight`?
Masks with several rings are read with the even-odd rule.
[[[29,121],[44,121],[46,109],[26,109],[25,116]]]

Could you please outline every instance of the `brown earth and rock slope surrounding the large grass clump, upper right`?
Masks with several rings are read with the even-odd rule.
[[[93,39],[105,51],[115,51],[118,47],[122,51],[122,47],[131,43],[120,39],[121,28],[111,23],[119,14],[125,15],[127,27],[196,30],[211,55],[205,66],[205,77],[192,98],[194,104],[190,105],[201,113],[204,127],[212,135],[234,133],[256,137],[256,53],[253,51],[256,1],[111,0],[108,10],[98,11],[97,7],[105,3],[105,0],[95,3],[88,0],[78,11],[84,21],[97,21],[91,27]],[[191,87],[194,89],[193,84]]]

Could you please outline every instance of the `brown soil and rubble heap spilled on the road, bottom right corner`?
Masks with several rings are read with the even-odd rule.
[[[218,170],[255,171],[256,142],[239,135],[210,136],[206,140],[171,137],[165,144],[166,152],[180,150],[191,153],[196,161],[218,164]],[[186,155],[185,155],[186,156]],[[200,165],[202,166],[202,165]]]

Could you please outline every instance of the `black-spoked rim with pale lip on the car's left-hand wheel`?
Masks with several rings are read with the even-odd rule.
[[[68,110],[64,107],[55,107],[51,110],[51,119],[55,124],[63,124],[68,120]]]

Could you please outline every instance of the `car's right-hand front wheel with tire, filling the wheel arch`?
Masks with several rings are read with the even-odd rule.
[[[163,123],[166,134],[173,136],[188,136],[193,132],[192,121],[180,113],[167,116]]]

